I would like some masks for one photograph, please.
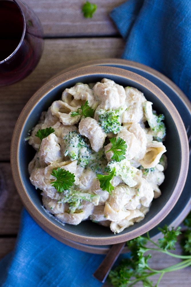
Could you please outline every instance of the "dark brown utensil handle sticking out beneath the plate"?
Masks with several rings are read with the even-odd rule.
[[[98,269],[93,274],[93,276],[97,280],[101,281],[102,283],[105,282],[111,268],[113,267],[113,264],[123,250],[125,243],[126,242],[122,242],[112,245],[106,257],[103,259],[102,263],[99,265]]]

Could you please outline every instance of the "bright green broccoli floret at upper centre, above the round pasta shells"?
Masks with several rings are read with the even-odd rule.
[[[109,109],[108,111],[101,109],[96,111],[96,114],[99,115],[98,123],[105,133],[112,132],[116,134],[122,129],[119,116],[121,116],[125,108],[121,107],[117,110]]]

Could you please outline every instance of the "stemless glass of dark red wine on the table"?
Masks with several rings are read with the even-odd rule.
[[[44,41],[39,19],[20,0],[0,0],[0,26],[0,86],[5,86],[34,70]]]

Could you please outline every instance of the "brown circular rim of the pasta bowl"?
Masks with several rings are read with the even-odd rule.
[[[31,110],[40,102],[49,92],[54,90],[54,88],[60,86],[64,82],[69,82],[74,80],[76,77],[86,76],[86,75],[98,75],[100,77],[109,77],[109,75],[114,75],[118,77],[124,77],[130,79],[136,83],[141,84],[141,86],[149,89],[157,98],[160,96],[160,101],[166,105],[168,104],[168,110],[176,124],[178,133],[180,135],[180,145],[182,147],[181,152],[181,166],[180,173],[176,187],[173,192],[173,196],[170,197],[169,201],[164,205],[164,207],[156,214],[151,220],[145,222],[142,226],[135,228],[132,231],[128,231],[125,234],[117,234],[117,236],[103,236],[103,237],[94,237],[94,236],[82,236],[80,234],[74,234],[68,230],[64,230],[60,226],[54,224],[51,220],[46,218],[40,210],[31,203],[31,199],[24,187],[19,166],[19,145],[17,143],[21,141],[21,131],[27,122],[27,119],[31,113]],[[24,120],[23,120],[24,119]],[[184,148],[183,148],[184,147]],[[105,245],[105,244],[116,244],[121,243],[132,238],[135,238],[145,232],[151,230],[154,226],[160,223],[172,210],[176,202],[178,201],[180,194],[183,190],[184,184],[186,182],[186,175],[188,173],[188,164],[189,164],[189,146],[186,130],[182,118],[180,117],[176,107],[171,102],[171,100],[158,88],[155,84],[145,79],[144,77],[117,67],[108,67],[108,66],[88,66],[81,67],[78,69],[70,70],[57,77],[52,78],[50,81],[46,82],[26,103],[21,114],[17,120],[13,131],[13,137],[11,140],[11,169],[13,180],[16,186],[16,189],[21,197],[23,205],[29,212],[29,214],[34,218],[34,220],[49,234],[52,236],[63,237],[68,240],[72,240],[78,243],[83,243],[87,245]],[[184,176],[183,176],[184,175]]]

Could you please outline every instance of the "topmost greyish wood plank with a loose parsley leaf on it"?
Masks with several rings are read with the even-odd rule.
[[[84,18],[79,0],[25,0],[31,7],[44,30],[44,37],[111,36],[118,35],[109,14],[126,0],[94,0],[97,11],[92,18]]]

